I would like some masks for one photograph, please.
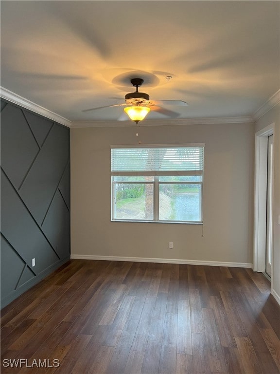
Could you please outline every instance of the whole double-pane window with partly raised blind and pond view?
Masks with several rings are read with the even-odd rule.
[[[112,221],[202,223],[203,150],[111,146]]]

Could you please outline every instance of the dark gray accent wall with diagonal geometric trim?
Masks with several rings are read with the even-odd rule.
[[[70,130],[0,108],[2,308],[70,259]]]

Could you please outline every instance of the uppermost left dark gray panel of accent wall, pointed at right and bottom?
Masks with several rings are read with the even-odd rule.
[[[38,151],[23,112],[7,105],[1,112],[1,167],[16,188],[22,183]]]

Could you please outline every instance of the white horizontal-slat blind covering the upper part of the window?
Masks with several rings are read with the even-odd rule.
[[[202,175],[204,144],[111,146],[112,175]]]

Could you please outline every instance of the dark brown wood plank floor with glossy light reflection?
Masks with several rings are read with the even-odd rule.
[[[251,269],[71,260],[2,310],[1,373],[280,373],[269,289]]]

